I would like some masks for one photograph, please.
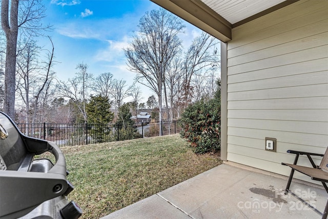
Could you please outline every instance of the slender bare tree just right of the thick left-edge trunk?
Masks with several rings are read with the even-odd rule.
[[[49,37],[52,44],[51,38]],[[48,51],[47,61],[39,63],[40,47],[33,40],[26,41],[25,44],[19,44],[19,54],[17,56],[17,92],[26,111],[25,123],[42,122],[46,116],[45,110],[48,101],[53,93],[52,81],[55,72],[51,71],[53,66],[54,47]],[[27,133],[28,134],[28,133]]]

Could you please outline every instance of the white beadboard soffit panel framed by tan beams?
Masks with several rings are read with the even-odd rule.
[[[200,0],[231,24],[242,21],[285,0]]]

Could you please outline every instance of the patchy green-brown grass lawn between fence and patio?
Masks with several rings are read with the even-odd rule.
[[[217,155],[194,154],[179,134],[60,149],[75,186],[68,198],[82,218],[105,216],[221,164]]]

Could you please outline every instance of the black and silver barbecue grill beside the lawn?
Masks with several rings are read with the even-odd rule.
[[[35,155],[50,152],[55,164]],[[28,137],[0,112],[0,218],[78,218],[82,211],[68,201],[66,161],[52,142]]]

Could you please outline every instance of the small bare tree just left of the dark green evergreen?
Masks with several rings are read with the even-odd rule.
[[[86,97],[89,96],[89,84],[92,83],[93,75],[88,73],[88,65],[84,63],[79,63],[76,69],[79,71],[76,76],[69,78],[68,82],[60,81],[58,83],[58,92],[62,97],[70,98],[73,103],[76,104],[79,112],[83,116],[83,120],[86,123],[88,120],[86,111]]]

